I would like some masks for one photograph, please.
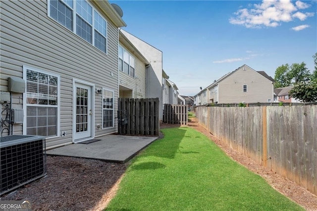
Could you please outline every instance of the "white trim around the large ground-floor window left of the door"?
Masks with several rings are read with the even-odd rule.
[[[57,123],[56,123],[57,134],[56,134],[56,136],[46,137],[46,139],[60,137],[60,76],[57,74],[53,74],[50,72],[46,72],[43,70],[39,70],[39,69],[36,69],[33,67],[23,65],[23,79],[25,80],[25,82],[26,82],[27,70],[33,70],[36,72],[40,72],[40,73],[44,73],[44,74],[48,74],[48,75],[57,77],[57,84],[58,84],[57,85]],[[26,107],[27,107],[27,94],[26,94],[26,90],[25,90],[25,92],[23,93],[23,111],[25,112],[24,117],[23,117],[23,131],[22,131],[23,135],[26,135]]]

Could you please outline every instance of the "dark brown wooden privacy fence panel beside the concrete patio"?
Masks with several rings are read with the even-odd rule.
[[[159,135],[159,98],[118,98],[118,133]]]

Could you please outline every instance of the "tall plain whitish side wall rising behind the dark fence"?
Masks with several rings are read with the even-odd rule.
[[[163,101],[162,101],[162,51],[152,45],[140,40],[139,38],[121,30],[130,42],[142,53],[150,62],[147,68],[147,98],[159,98],[159,120],[163,119]]]

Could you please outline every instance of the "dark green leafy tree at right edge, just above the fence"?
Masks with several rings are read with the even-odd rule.
[[[290,96],[304,103],[317,101],[317,80],[298,82],[289,92]]]

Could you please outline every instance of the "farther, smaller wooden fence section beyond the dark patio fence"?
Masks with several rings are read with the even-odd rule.
[[[163,123],[187,125],[188,105],[164,104]]]

